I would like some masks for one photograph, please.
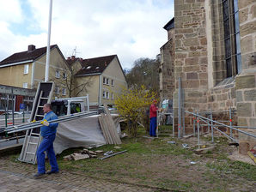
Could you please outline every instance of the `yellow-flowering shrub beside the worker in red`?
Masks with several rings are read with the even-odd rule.
[[[137,136],[138,122],[141,123],[145,119],[146,109],[155,97],[156,93],[146,90],[144,86],[124,88],[122,93],[116,97],[114,104],[120,116],[128,121],[129,135]],[[146,126],[145,129],[147,129]]]

